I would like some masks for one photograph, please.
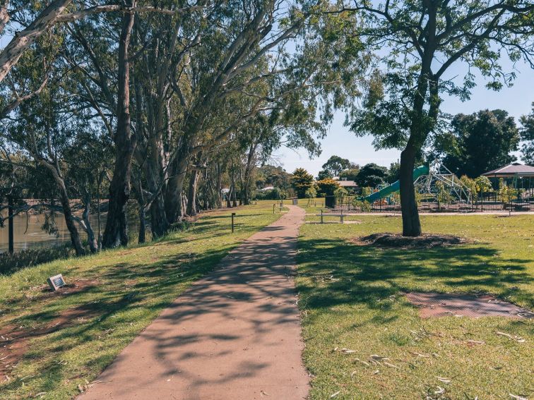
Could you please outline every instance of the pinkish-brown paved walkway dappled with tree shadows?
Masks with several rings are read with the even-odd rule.
[[[78,399],[304,399],[292,274],[305,212],[286,207],[179,296]]]

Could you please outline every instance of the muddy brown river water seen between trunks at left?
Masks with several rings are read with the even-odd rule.
[[[95,235],[98,232],[97,216],[90,215],[91,226]],[[102,233],[105,228],[105,216],[102,218]],[[45,214],[32,214],[26,217],[26,214],[18,214],[13,217],[13,231],[15,236],[15,251],[26,250],[42,246],[57,246],[71,241],[69,231],[66,229],[65,218],[63,214],[56,214],[56,224],[58,236],[49,235],[41,229],[45,222]],[[82,240],[87,238],[85,231],[78,228]],[[4,228],[0,228],[0,253],[8,250],[8,222],[4,223]]]

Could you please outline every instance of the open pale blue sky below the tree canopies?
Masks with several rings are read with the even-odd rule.
[[[511,67],[510,67],[511,68]],[[456,97],[446,97],[442,103],[442,110],[450,114],[470,114],[480,109],[504,109],[516,118],[530,112],[530,103],[534,102],[534,71],[525,63],[516,65],[517,78],[512,87],[504,87],[500,92],[487,90],[484,80],[477,79],[477,87],[467,102],[461,102]],[[450,76],[458,75],[463,78],[463,66],[451,69]],[[275,152],[274,161],[282,165],[286,171],[292,172],[297,167],[303,167],[317,175],[321,165],[333,154],[348,158],[352,162],[364,165],[369,162],[389,166],[400,157],[399,150],[374,150],[372,137],[357,138],[348,128],[343,126],[345,116],[336,114],[336,118],[328,131],[328,136],[321,141],[323,150],[320,157],[309,159],[304,150],[280,149]],[[518,155],[518,154],[517,154]]]

